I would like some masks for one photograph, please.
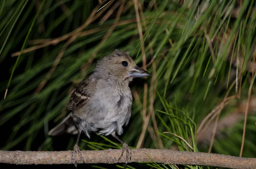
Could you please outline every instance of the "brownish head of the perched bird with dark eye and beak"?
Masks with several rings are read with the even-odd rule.
[[[130,82],[134,77],[150,76],[148,72],[136,65],[129,54],[117,49],[108,56],[103,57],[102,60],[99,60],[94,72],[120,82]]]

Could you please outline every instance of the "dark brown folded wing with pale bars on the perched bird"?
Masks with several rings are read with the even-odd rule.
[[[79,86],[77,86],[70,97],[70,101],[67,104],[67,111],[73,111],[79,106],[85,106],[88,99],[90,99],[90,93],[92,90],[90,89],[90,80],[89,77],[85,78],[84,80],[79,83]]]

